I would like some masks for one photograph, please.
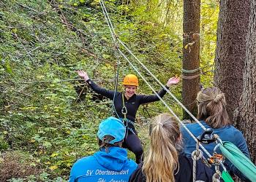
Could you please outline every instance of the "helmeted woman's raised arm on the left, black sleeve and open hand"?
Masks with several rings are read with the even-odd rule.
[[[115,92],[113,90],[107,90],[105,88],[99,87],[99,85],[95,84],[89,78],[86,71],[78,70],[77,73],[78,73],[78,76],[80,76],[81,79],[84,79],[89,84],[89,86],[91,87],[92,90],[94,90],[94,92],[97,92],[98,94],[103,95],[106,98],[109,98],[109,99],[113,100],[113,95],[115,94]]]

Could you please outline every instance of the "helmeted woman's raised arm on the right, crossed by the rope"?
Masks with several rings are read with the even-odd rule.
[[[169,87],[172,84],[177,84],[179,82],[179,78],[178,77],[171,77],[168,82],[166,83],[166,88],[169,89]],[[162,88],[162,90],[160,90],[157,94],[160,96],[160,98],[162,98],[165,94],[166,94],[166,90],[164,88]],[[143,103],[151,103],[154,101],[159,100],[159,98],[157,97],[157,95],[138,95],[138,97],[140,98],[140,104]]]

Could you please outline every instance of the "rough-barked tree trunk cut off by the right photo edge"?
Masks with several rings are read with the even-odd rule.
[[[249,33],[246,43],[244,87],[235,121],[246,138],[252,162],[256,163],[256,0],[251,1]]]

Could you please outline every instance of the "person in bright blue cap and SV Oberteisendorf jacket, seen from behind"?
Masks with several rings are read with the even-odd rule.
[[[120,119],[109,117],[103,120],[97,132],[99,151],[75,162],[70,171],[69,182],[127,182],[137,164],[127,159],[127,150],[121,148],[125,131]]]

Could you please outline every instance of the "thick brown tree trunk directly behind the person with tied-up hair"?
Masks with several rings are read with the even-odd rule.
[[[231,121],[243,88],[249,1],[221,0],[219,6],[214,85],[226,94]]]

